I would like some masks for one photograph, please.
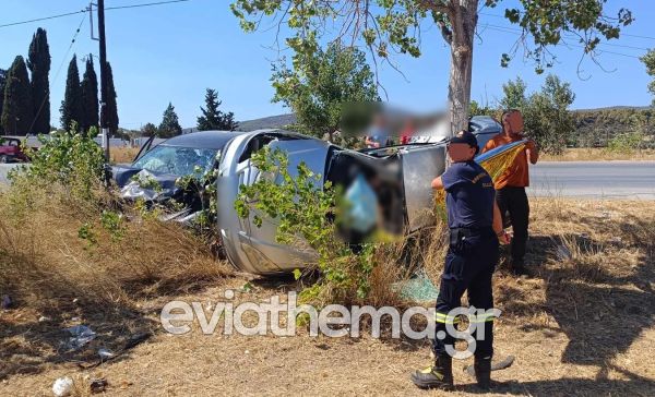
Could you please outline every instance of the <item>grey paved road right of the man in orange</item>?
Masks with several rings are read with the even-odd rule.
[[[655,161],[544,161],[529,177],[537,196],[655,200]]]

